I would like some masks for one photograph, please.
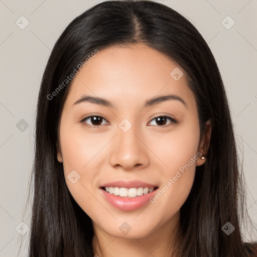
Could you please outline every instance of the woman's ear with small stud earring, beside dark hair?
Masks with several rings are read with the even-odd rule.
[[[209,149],[209,144],[210,144],[210,137],[211,137],[211,121],[208,120],[205,123],[204,134],[199,143],[198,152],[200,152],[201,155],[199,155],[199,158],[196,161],[196,166],[201,166],[206,161],[206,155],[207,155],[207,152]]]

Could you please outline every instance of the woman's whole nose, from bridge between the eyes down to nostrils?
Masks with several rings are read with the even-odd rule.
[[[135,165],[148,164],[147,149],[139,138],[142,133],[138,126],[123,119],[117,127],[114,148],[110,156],[111,165],[120,165],[124,169],[131,169]],[[142,140],[143,141],[143,140]]]

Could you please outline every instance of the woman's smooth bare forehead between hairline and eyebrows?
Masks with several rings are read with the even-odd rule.
[[[113,105],[122,104],[124,100],[127,104],[143,103],[165,94],[183,96],[191,103],[194,101],[182,68],[166,55],[143,44],[100,50],[78,72],[70,87],[67,97],[70,103],[87,94],[108,98]]]

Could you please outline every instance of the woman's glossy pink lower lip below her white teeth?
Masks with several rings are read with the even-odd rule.
[[[100,190],[103,196],[105,197],[105,199],[111,205],[123,211],[131,211],[131,210],[139,209],[143,207],[147,202],[150,202],[150,198],[156,194],[158,188],[156,188],[154,191],[148,194],[140,195],[134,198],[125,198],[125,197],[109,194],[102,188],[100,188]]]

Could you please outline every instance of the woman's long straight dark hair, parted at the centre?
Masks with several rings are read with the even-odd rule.
[[[201,135],[207,120],[212,125],[206,163],[196,168],[192,190],[181,207],[176,256],[251,256],[253,244],[242,240],[243,185],[215,59],[182,15],[159,3],[132,0],[93,6],[67,26],[51,52],[37,105],[29,256],[93,256],[92,221],[71,196],[57,160],[58,126],[70,83],[56,88],[96,49],[134,43],[164,53],[183,68],[196,97]],[[227,222],[235,227],[230,235],[222,230]]]

